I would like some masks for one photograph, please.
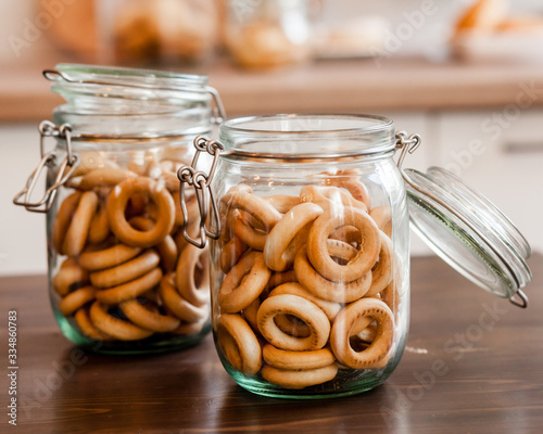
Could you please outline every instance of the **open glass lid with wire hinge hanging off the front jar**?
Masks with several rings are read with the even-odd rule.
[[[521,289],[531,281],[525,260],[530,245],[492,202],[449,170],[403,169],[405,156],[419,144],[418,135],[396,133],[397,167],[406,182],[412,228],[460,275],[515,306],[527,307]]]

